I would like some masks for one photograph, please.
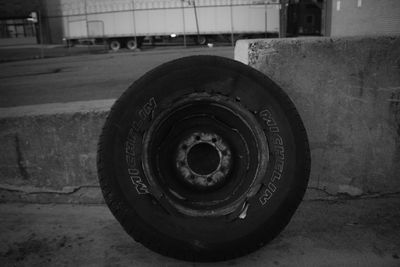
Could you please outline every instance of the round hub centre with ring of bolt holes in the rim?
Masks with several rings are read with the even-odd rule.
[[[178,145],[178,173],[185,183],[197,189],[222,184],[231,165],[231,151],[215,133],[195,132]]]

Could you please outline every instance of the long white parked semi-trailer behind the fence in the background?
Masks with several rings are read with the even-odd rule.
[[[61,0],[65,40],[135,49],[145,37],[278,34],[279,0]]]

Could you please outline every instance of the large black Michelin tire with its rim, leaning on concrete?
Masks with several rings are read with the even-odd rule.
[[[148,72],[116,101],[97,166],[107,205],[136,241],[177,259],[220,261],[289,223],[310,151],[278,85],[239,62],[193,56]]]

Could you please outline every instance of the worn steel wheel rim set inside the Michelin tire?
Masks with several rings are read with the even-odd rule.
[[[229,130],[221,121],[224,116],[229,118],[227,125],[236,128]],[[174,122],[177,118],[180,126]],[[218,168],[211,172],[211,176],[216,173],[220,175],[212,177],[217,181],[211,186],[182,184],[182,180],[187,179],[179,179],[179,166],[182,165],[179,160],[169,161],[166,156],[174,154],[171,151],[175,151],[176,155],[185,137],[198,134],[196,131],[199,130],[193,121],[199,123],[201,134],[214,138],[220,136],[219,143],[224,143],[226,147],[226,150],[218,150],[218,154],[221,153],[219,160],[224,163],[218,164]],[[190,129],[181,133],[180,130],[185,127]],[[169,135],[165,135],[166,129],[170,129]],[[165,137],[161,137],[163,134]],[[161,141],[162,138],[165,140]],[[157,115],[143,140],[142,165],[151,193],[170,212],[186,216],[219,217],[240,213],[261,187],[268,165],[268,144],[257,120],[239,103],[221,95],[191,94],[177,101]],[[198,140],[198,143],[207,142]],[[223,156],[222,151],[229,152]],[[201,175],[197,178],[200,179]]]

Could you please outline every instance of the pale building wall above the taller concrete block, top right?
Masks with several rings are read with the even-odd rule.
[[[400,34],[399,0],[328,0],[330,36]]]

